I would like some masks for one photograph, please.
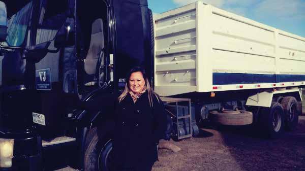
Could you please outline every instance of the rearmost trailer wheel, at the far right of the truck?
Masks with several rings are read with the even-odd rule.
[[[287,96],[282,100],[282,106],[285,115],[286,130],[294,130],[298,122],[298,108],[295,97]]]

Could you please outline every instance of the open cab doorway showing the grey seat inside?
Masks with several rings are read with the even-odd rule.
[[[84,58],[83,81],[85,89],[94,89],[103,86],[109,79],[105,73],[108,38],[107,6],[103,1],[94,3],[78,2],[77,17],[79,20],[79,44],[77,49],[84,49],[81,58]],[[81,7],[81,8],[80,8]],[[99,11],[99,13],[88,13]]]

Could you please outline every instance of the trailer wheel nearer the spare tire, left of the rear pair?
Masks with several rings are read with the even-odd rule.
[[[268,138],[275,139],[283,133],[284,110],[279,102],[272,101],[270,108],[261,108],[259,116],[262,132]]]

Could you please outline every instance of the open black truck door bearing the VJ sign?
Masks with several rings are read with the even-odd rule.
[[[42,138],[63,134],[65,125],[63,117],[69,108],[67,103],[72,101],[72,97],[66,94],[75,94],[74,98],[77,98],[73,2],[69,0],[40,1],[36,38],[34,37],[35,47],[45,44],[49,46],[45,55],[32,61],[35,63],[34,89],[38,90],[41,103],[36,105],[33,112],[45,116],[45,125],[38,125],[43,130]],[[64,40],[61,40],[62,38]],[[35,53],[38,52],[37,50]]]

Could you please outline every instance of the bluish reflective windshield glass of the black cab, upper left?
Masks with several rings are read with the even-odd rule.
[[[28,3],[8,20],[8,36],[2,45],[5,43],[8,46],[22,45],[31,19],[32,7],[32,2]]]

